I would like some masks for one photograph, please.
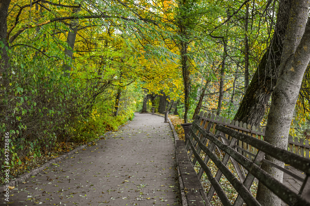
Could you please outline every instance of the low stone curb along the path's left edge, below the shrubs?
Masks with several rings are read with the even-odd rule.
[[[104,135],[100,136],[101,137],[104,137],[105,135],[108,135],[109,133],[111,133],[112,131],[108,131],[106,132]],[[61,160],[73,155],[75,152],[79,151],[79,150],[82,150],[84,149],[87,145],[91,145],[93,144],[94,142],[98,141],[100,138],[98,139],[95,139],[95,141],[91,141],[91,142],[88,142],[87,144],[85,145],[81,145],[81,146],[78,146],[76,147],[75,149],[71,150],[70,152],[68,153],[65,153],[59,157],[56,157],[54,159],[51,159],[50,161],[46,162],[44,165],[36,168],[36,169],[33,169],[31,170],[29,173],[27,174],[23,174],[23,175],[20,175],[19,178],[16,178],[16,179],[12,179],[9,183],[6,183],[4,185],[1,185],[0,186],[0,193],[2,193],[6,188],[7,186],[6,185],[9,185],[11,187],[17,185],[18,183],[22,183],[24,182],[25,180],[29,179],[31,176],[34,176],[36,174],[38,174],[39,172],[42,172],[44,169],[46,169],[47,167],[51,167],[52,164],[55,164],[57,162],[60,162]]]

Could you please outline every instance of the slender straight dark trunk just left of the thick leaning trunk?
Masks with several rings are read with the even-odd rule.
[[[249,3],[246,3],[246,18],[245,18],[245,45],[244,45],[244,93],[249,87],[249,39],[248,39],[248,26],[249,26]]]

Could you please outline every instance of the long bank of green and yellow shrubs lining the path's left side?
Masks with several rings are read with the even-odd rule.
[[[48,153],[56,141],[94,140],[133,118],[135,105],[131,101],[139,96],[135,86],[124,87],[119,116],[112,116],[115,71],[106,69],[104,78],[91,70],[81,73],[82,77],[77,73],[68,77],[62,62],[33,57],[29,49],[9,49],[8,54],[10,74],[9,83],[1,85],[0,130],[10,132],[9,166]],[[0,144],[3,173],[4,137]]]

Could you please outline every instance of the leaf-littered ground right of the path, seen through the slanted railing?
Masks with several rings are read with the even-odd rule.
[[[174,116],[174,115],[169,115],[169,119],[171,120],[173,126],[175,127],[175,131],[177,132],[179,139],[180,140],[184,140],[184,130],[183,130],[182,126],[181,126],[181,124],[183,124],[184,121],[182,119],[180,119],[178,116]],[[222,160],[222,158],[221,158],[221,156],[220,156],[218,151],[216,152],[216,154],[217,154],[218,158],[220,160]],[[222,153],[222,155],[224,156],[223,153]],[[200,156],[201,156],[202,159],[204,159],[206,154],[202,151],[200,153]],[[193,156],[191,157],[191,159],[193,161]],[[212,162],[212,160],[209,160],[207,165],[208,165],[209,169],[211,170],[211,173],[213,174],[213,177],[215,177],[215,174],[216,174],[218,168],[215,166],[215,164]],[[227,167],[237,177],[237,173],[236,173],[236,171],[234,169],[234,166],[232,165],[232,162],[230,160],[228,161]],[[199,165],[198,162],[196,163],[194,169],[198,173],[198,171],[200,169],[200,165]],[[209,182],[206,173],[203,173],[203,175],[201,177],[201,183],[202,183],[202,186],[205,188],[205,192],[207,194],[209,189],[210,189],[210,187],[211,187],[211,183]],[[236,198],[237,198],[237,195],[238,195],[237,191],[234,189],[234,187],[232,187],[232,185],[225,178],[224,175],[220,179],[219,183],[222,186],[222,188],[223,188],[225,194],[227,195],[228,199],[233,203],[236,200]],[[256,197],[257,183],[254,182],[250,189],[251,189],[251,192],[252,192],[253,196]],[[221,201],[220,201],[220,199],[219,199],[219,197],[218,197],[216,192],[214,193],[210,204],[214,205],[214,206],[223,205],[221,203]]]

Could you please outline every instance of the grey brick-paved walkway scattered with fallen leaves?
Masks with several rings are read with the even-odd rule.
[[[135,113],[129,124],[11,190],[0,205],[180,205],[169,123]],[[3,203],[3,204],[2,204]]]

